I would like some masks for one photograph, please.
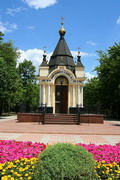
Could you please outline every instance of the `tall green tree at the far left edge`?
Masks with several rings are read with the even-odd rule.
[[[22,83],[16,69],[19,52],[12,41],[2,40],[0,33],[0,114],[15,108],[22,99]]]

